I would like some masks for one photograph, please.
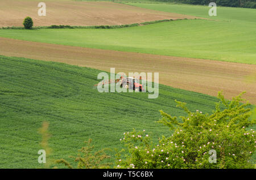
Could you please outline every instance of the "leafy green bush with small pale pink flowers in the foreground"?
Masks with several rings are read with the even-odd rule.
[[[254,168],[250,158],[255,132],[247,127],[254,125],[255,119],[249,118],[249,104],[240,104],[241,95],[226,101],[218,93],[220,102],[210,115],[190,112],[185,103],[177,102],[187,113],[182,122],[160,111],[158,122],[170,127],[173,134],[162,136],[154,145],[144,130],[125,132],[120,140],[127,149],[117,154],[115,168]]]

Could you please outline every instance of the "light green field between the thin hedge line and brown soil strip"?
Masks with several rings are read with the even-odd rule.
[[[120,29],[1,29],[20,40],[256,64],[251,23],[176,20]]]

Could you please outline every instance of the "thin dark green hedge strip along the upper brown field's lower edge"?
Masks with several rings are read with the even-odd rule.
[[[185,18],[185,19],[187,19],[187,18]],[[155,20],[152,22],[121,24],[121,25],[90,25],[90,26],[50,25],[50,26],[33,27],[32,29],[117,29],[117,28],[129,28],[129,27],[135,27],[135,26],[140,26],[140,25],[162,23],[162,22],[171,22],[173,20],[174,19],[163,19],[163,20]],[[183,20],[183,19],[175,19],[175,20]],[[2,29],[24,29],[24,27],[13,26],[13,27],[2,27]]]

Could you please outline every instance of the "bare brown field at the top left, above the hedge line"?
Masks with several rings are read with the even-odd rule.
[[[23,26],[30,16],[34,26],[121,25],[163,19],[193,19],[195,16],[147,10],[113,2],[45,1],[46,16],[38,16],[38,3],[30,0],[0,0],[0,27]]]

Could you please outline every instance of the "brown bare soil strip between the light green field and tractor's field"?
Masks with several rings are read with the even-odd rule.
[[[116,73],[159,72],[161,84],[212,96],[223,90],[226,98],[246,91],[244,97],[251,104],[256,102],[256,83],[248,80],[248,77],[255,74],[256,65],[53,45],[2,37],[0,54],[63,62],[104,71],[115,67]]]

